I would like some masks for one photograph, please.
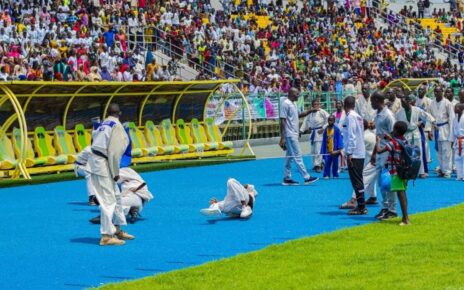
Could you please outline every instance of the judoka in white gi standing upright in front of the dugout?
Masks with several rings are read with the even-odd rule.
[[[119,121],[121,112],[117,104],[108,107],[108,118],[94,132],[88,166],[90,180],[95,187],[101,211],[100,245],[123,245],[134,236],[121,230],[126,217],[121,205],[117,185],[121,157],[129,145],[124,127]]]

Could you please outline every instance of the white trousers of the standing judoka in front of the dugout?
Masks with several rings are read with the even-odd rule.
[[[114,235],[114,225],[127,224],[118,185],[111,177],[91,174],[90,178],[100,203],[100,232],[102,235]]]

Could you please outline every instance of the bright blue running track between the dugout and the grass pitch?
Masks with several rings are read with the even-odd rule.
[[[126,227],[136,239],[122,247],[98,246],[99,226],[88,222],[98,208],[87,206],[84,180],[0,189],[0,289],[99,286],[374,222],[378,206],[362,217],[338,209],[351,194],[346,173],[283,187],[282,166],[279,158],[142,174],[155,199],[143,220]],[[228,177],[260,193],[248,221],[199,213],[211,197],[223,197]],[[462,203],[464,182],[418,180],[408,197],[411,213]]]

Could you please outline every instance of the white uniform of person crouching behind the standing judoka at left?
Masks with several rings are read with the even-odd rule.
[[[145,180],[135,170],[129,167],[121,168],[119,171],[121,186],[121,205],[124,215],[129,213],[131,207],[137,207],[142,212],[145,202],[153,199]]]

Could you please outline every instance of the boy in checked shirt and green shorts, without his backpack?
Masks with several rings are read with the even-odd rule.
[[[407,142],[404,138],[404,134],[407,130],[408,124],[406,122],[396,122],[393,126],[392,137],[388,137],[390,140],[385,144],[385,147],[382,148],[380,146],[380,138],[377,137],[377,150],[374,151],[374,154],[381,154],[387,151],[390,152],[385,166],[388,168],[391,175],[391,192],[397,193],[401,212],[403,213],[403,219],[401,220],[400,226],[409,224],[408,200],[406,198],[408,181],[400,178],[396,170],[397,165],[401,162],[401,156],[403,153],[403,147],[400,143],[405,144]]]

